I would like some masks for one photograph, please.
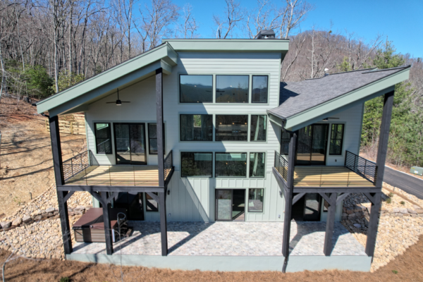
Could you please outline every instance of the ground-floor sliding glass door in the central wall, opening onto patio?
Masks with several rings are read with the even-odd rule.
[[[245,220],[245,189],[216,189],[216,221]]]

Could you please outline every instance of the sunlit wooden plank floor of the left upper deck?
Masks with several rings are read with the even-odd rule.
[[[69,178],[66,185],[159,186],[157,166],[90,166]]]

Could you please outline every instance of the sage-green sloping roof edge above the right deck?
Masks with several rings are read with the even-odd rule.
[[[278,123],[283,123],[283,128],[286,128],[286,130],[295,131],[312,123],[316,123],[317,121],[321,121],[326,117],[350,109],[357,104],[362,104],[370,99],[391,92],[395,90],[396,84],[407,80],[409,76],[410,68],[405,68],[403,71],[393,73],[386,78],[364,85],[363,87],[345,93],[293,116],[289,116],[288,118],[272,113],[271,110],[268,110],[267,113],[269,116],[272,116],[272,118],[269,118],[270,120],[273,119],[278,121]]]

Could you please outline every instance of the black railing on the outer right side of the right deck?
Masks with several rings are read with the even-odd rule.
[[[362,178],[369,180],[373,185],[375,184],[377,166],[373,161],[364,159],[350,151],[345,151],[345,167],[362,176]]]

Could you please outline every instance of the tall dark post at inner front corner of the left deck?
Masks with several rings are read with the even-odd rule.
[[[163,70],[156,70],[156,114],[157,114],[157,159],[159,186],[164,187],[164,144],[163,144]],[[166,189],[165,189],[166,190]],[[167,256],[166,191],[159,193],[161,255]]]

